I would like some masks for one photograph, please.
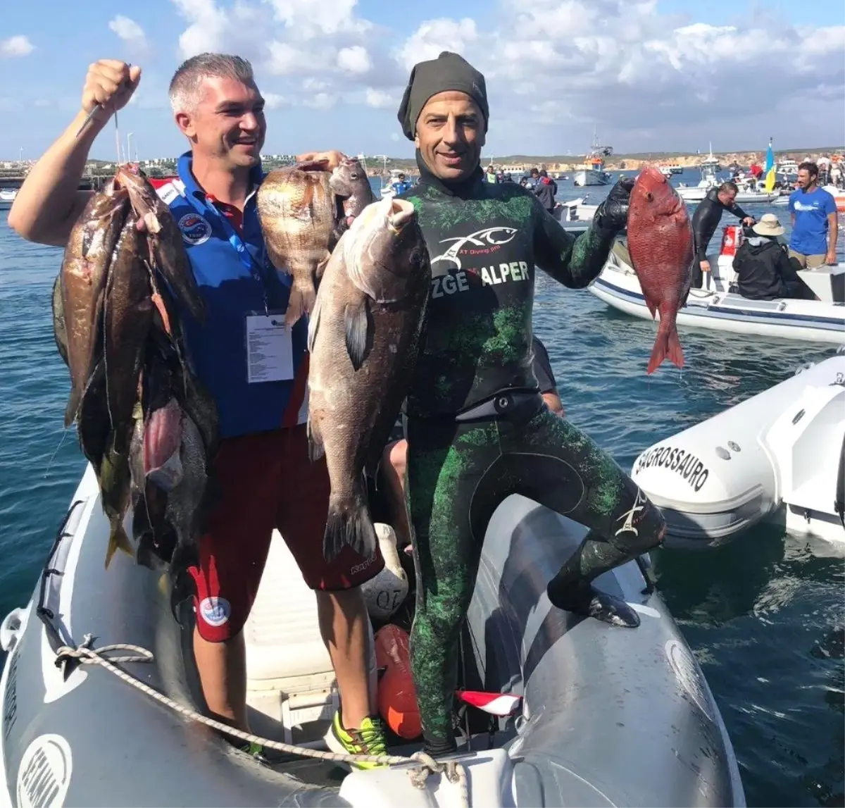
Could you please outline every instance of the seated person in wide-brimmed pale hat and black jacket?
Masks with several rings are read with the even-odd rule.
[[[777,240],[785,232],[777,216],[763,214],[751,230],[754,236],[745,238],[733,257],[739,294],[750,300],[818,300],[796,272],[798,261]]]

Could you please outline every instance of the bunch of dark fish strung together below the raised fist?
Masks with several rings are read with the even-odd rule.
[[[197,558],[217,414],[186,361],[177,301],[204,319],[170,210],[136,167],[119,167],[74,226],[52,294],[72,382],[66,422],[110,525],[106,568],[117,549],[176,576]],[[137,550],[123,527],[130,507]]]

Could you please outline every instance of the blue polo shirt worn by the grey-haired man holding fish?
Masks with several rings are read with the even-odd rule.
[[[292,329],[294,378],[248,383],[246,318],[284,312],[291,278],[270,263],[255,205],[264,178],[254,168],[253,190],[243,221],[232,221],[199,187],[188,152],[178,161],[178,180],[157,188],[182,232],[191,269],[205,301],[205,325],[179,307],[188,354],[214,397],[221,438],[304,423],[308,417],[308,319]],[[237,217],[240,218],[240,217]]]

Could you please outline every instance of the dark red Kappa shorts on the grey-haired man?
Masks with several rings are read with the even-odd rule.
[[[221,440],[215,459],[220,499],[199,540],[194,609],[199,636],[222,642],[246,623],[278,528],[308,587],[357,587],[384,568],[377,551],[364,559],[345,547],[331,563],[323,557],[329,508],[325,459],[308,459],[305,424]]]

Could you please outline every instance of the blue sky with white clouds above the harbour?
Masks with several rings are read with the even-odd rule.
[[[0,159],[41,154],[79,106],[88,64],[138,63],[120,113],[139,156],[185,142],[166,85],[199,50],[251,59],[268,152],[410,156],[395,118],[408,69],[444,48],[488,77],[487,156],[765,149],[845,141],[845,3],[796,0],[26,0],[0,17]],[[121,19],[123,18],[123,19]],[[810,22],[823,19],[823,25]],[[111,127],[92,156],[114,156]]]

